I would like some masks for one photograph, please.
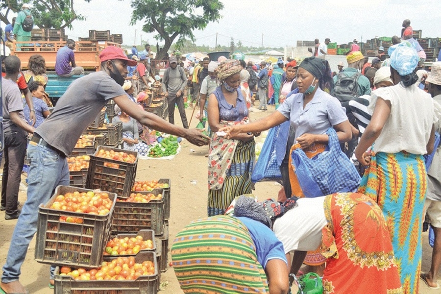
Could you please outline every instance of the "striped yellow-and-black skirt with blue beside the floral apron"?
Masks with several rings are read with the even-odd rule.
[[[252,141],[238,140],[229,170],[221,189],[208,191],[208,216],[223,215],[236,196],[251,193],[251,172],[255,161]]]

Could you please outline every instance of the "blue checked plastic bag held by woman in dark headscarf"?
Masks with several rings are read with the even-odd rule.
[[[297,148],[291,154],[295,175],[306,197],[355,192],[360,184],[360,175],[340,148],[337,133],[333,128],[326,133],[329,144],[322,153],[308,158],[302,149]]]

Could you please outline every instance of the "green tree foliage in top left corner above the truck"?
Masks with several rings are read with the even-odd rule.
[[[90,2],[91,0],[84,1]],[[72,28],[74,20],[85,20],[84,16],[75,12],[73,0],[0,0],[0,21],[10,24],[9,13],[19,12],[24,2],[31,5],[34,24],[40,28]]]

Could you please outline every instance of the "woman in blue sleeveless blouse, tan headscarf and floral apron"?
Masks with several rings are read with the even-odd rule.
[[[208,99],[208,123],[213,131],[208,153],[208,216],[223,214],[236,196],[251,193],[254,135],[237,134],[225,139],[216,134],[221,127],[249,122],[239,89],[241,70],[238,60],[223,61],[217,69],[221,86]]]

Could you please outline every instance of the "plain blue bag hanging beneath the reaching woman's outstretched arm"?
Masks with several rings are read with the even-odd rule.
[[[288,122],[289,123],[289,122]],[[264,179],[277,180],[282,178],[282,174],[277,163],[276,141],[280,130],[281,124],[276,125],[268,132],[267,139],[265,139],[264,145],[257,159],[254,170],[251,173],[251,181],[258,182]]]

